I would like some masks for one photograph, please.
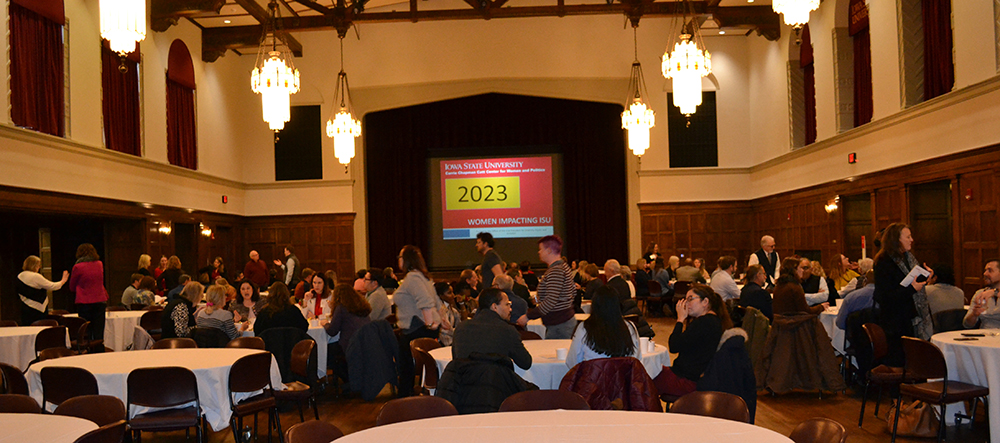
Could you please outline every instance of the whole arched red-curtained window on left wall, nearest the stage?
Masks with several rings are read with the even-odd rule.
[[[188,169],[198,169],[194,89],[191,53],[174,40],[167,56],[167,161]]]

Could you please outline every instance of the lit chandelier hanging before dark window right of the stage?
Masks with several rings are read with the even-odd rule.
[[[686,5],[691,6],[690,3]],[[698,19],[692,17],[688,21],[686,10],[680,36],[671,42],[674,43],[673,51],[668,43],[661,69],[664,77],[673,80],[674,106],[690,118],[701,105],[701,78],[712,73],[712,54],[702,49],[705,43],[701,40]],[[690,119],[688,125],[691,125]]]

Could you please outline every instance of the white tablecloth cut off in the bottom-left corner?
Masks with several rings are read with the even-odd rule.
[[[97,424],[64,415],[0,414],[0,429],[0,443],[72,443]]]

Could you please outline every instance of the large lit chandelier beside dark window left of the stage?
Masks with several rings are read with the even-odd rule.
[[[264,121],[273,131],[285,127],[291,117],[289,96],[299,92],[299,70],[292,63],[292,51],[277,28],[278,3],[271,0],[271,21],[257,48],[257,62],[250,74],[250,88],[260,94]]]

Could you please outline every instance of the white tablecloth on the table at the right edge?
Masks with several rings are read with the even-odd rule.
[[[983,333],[986,336],[976,337],[978,340],[955,341],[963,333]],[[1000,335],[994,335],[997,333],[1000,331],[978,329],[942,332],[931,337],[931,343],[944,354],[949,380],[990,388],[990,441],[1000,441]],[[954,412],[960,407],[962,406],[949,405],[945,418],[954,422]]]

